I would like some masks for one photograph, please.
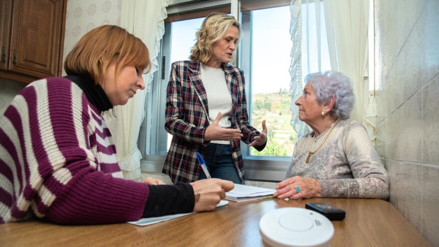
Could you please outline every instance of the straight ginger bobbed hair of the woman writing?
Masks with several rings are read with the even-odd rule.
[[[127,65],[146,72],[151,69],[148,48],[142,40],[115,25],[102,25],[87,32],[65,58],[64,69],[68,75],[86,76],[101,84],[112,61],[117,64],[115,76]]]

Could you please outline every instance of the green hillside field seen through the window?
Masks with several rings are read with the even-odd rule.
[[[251,105],[251,125],[262,130],[261,123],[265,120],[268,129],[268,142],[264,150],[258,152],[252,148],[250,154],[292,156],[297,134],[290,124],[290,93],[284,89],[277,93],[253,94]]]

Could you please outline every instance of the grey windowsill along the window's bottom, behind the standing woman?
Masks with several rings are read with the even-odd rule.
[[[148,155],[147,159],[141,160],[140,169],[144,173],[160,174],[165,159],[164,155]],[[285,179],[288,165],[289,161],[244,159],[245,180],[282,181]]]

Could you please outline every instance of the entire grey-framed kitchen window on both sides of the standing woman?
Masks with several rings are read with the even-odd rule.
[[[249,121],[252,126],[261,130],[261,122],[265,119],[269,133],[267,146],[262,152],[248,148],[241,142],[245,176],[247,180],[279,181],[284,179],[297,141],[297,134],[290,125],[289,67],[292,41],[289,33],[289,0],[240,2],[239,17],[243,38],[237,50],[236,61],[238,67],[244,71]],[[312,4],[314,3],[308,5]],[[139,138],[139,148],[144,151],[142,171],[161,172],[163,167],[172,139],[164,129],[170,67],[172,62],[189,59],[190,49],[195,43],[195,33],[204,19],[200,16],[213,12],[204,11],[204,15],[194,14],[192,19],[181,20],[174,16],[170,18],[172,22],[165,23],[159,70],[154,75],[151,91],[147,95],[147,116]],[[315,16],[302,17],[302,26],[306,25],[305,20],[312,18],[315,19]],[[313,25],[311,21],[308,24]],[[306,29],[302,29],[302,37],[306,35],[303,30]],[[326,33],[322,36],[326,37]],[[312,36],[307,37],[313,39]],[[302,48],[303,42],[306,42],[305,38],[302,38]],[[324,48],[322,52],[325,52],[323,50]],[[303,70],[302,74],[306,75],[308,71],[315,69],[307,65],[313,65],[315,57],[312,53],[302,54],[302,68],[309,68],[307,71]]]

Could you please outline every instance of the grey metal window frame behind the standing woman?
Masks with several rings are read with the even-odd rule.
[[[239,1],[231,1],[231,4],[239,6]],[[233,6],[231,6],[231,9],[233,9]],[[240,9],[239,14],[241,14]],[[238,67],[244,71],[247,108],[251,109],[251,59],[249,59],[251,58],[251,15],[240,15],[239,19],[244,35],[239,44],[236,61]],[[171,33],[172,22],[167,22],[165,23],[165,33],[158,55],[159,68],[154,73],[151,91],[147,92],[145,104],[146,117],[139,136],[139,149],[143,156],[141,171],[145,173],[161,173],[166,159],[166,154],[160,153],[160,147],[167,145],[167,132],[164,126],[166,87],[171,69],[168,62],[168,59],[171,57]],[[246,46],[243,46],[243,44],[246,44]],[[157,106],[154,106],[153,102],[156,102]],[[251,111],[248,111],[248,117],[249,121],[251,121]],[[249,148],[247,144],[241,141],[246,180],[278,182],[285,179],[291,157],[248,155]],[[156,153],[157,155],[151,155],[151,153]]]

